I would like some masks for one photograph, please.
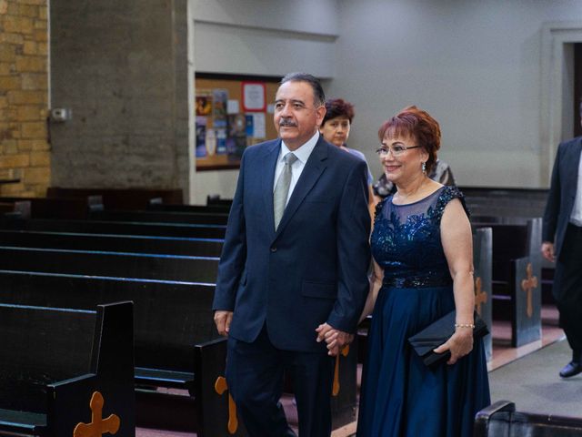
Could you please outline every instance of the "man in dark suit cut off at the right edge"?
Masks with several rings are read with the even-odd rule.
[[[582,109],[582,105],[580,106]],[[582,112],[581,112],[582,113]],[[581,120],[582,121],[582,120]],[[582,137],[561,143],[547,198],[542,255],[556,261],[552,292],[572,348],[562,378],[582,372]]]

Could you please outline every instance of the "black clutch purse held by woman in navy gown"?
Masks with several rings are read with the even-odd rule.
[[[449,312],[445,317],[442,317],[424,330],[417,332],[412,337],[408,338],[408,342],[412,349],[418,354],[422,361],[431,369],[436,368],[440,363],[447,361],[451,352],[436,353],[433,351],[438,346],[447,342],[447,340],[455,333],[455,311]],[[479,317],[477,312],[473,314],[475,328],[473,329],[473,338],[478,339],[484,337],[489,333],[487,324]]]

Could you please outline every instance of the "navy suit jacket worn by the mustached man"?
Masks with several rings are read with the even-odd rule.
[[[275,230],[273,184],[281,140],[241,160],[214,310],[234,311],[229,335],[287,351],[324,351],[323,322],[354,332],[369,290],[365,161],[320,137]]]

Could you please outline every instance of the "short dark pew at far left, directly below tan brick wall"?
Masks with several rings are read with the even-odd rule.
[[[32,219],[87,219],[90,211],[103,209],[100,196],[84,198],[0,198],[0,202],[30,202]]]

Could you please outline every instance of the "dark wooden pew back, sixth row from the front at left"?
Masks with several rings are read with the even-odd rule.
[[[199,225],[226,225],[228,214],[225,212],[184,212],[107,209],[91,214],[94,220],[137,221],[147,223],[190,223]]]

